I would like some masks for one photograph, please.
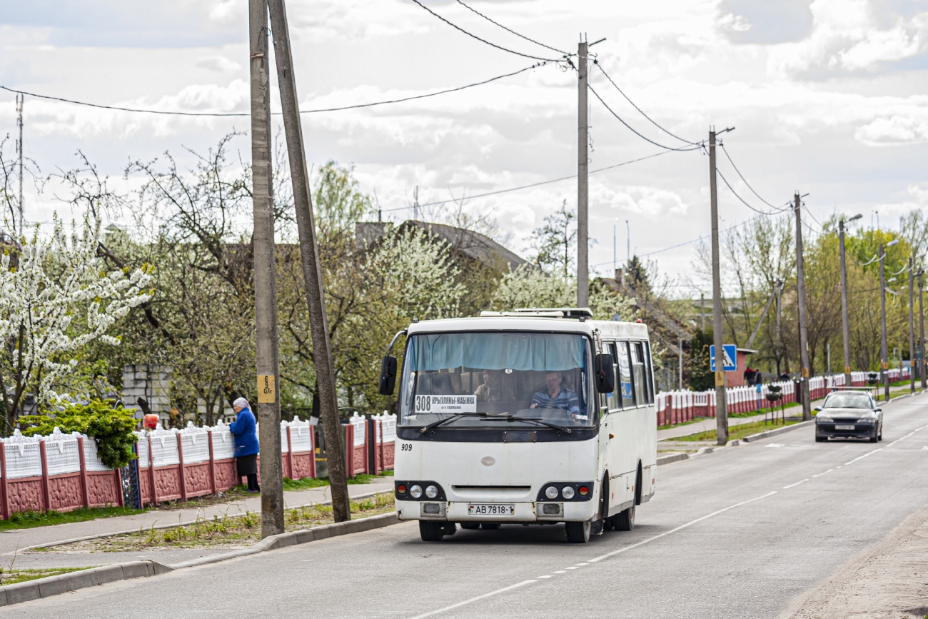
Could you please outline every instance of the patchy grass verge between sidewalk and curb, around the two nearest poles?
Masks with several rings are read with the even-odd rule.
[[[395,508],[393,492],[353,500],[353,519],[390,513]],[[332,522],[330,505],[312,505],[285,509],[287,531],[299,531]],[[102,539],[75,542],[53,548],[35,548],[36,551],[122,552],[126,550],[159,550],[168,548],[241,548],[261,539],[261,514],[246,512],[240,516],[214,516],[212,520],[199,520],[185,526],[167,529],[139,529],[137,533],[116,535]]]

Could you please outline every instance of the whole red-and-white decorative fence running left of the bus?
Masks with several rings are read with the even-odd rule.
[[[280,422],[283,475],[316,477],[316,425]],[[350,476],[393,469],[396,417],[355,416],[343,425]],[[224,492],[241,483],[232,433],[222,421],[212,428],[192,422],[183,430],[136,432],[138,486],[143,505]],[[260,463],[260,457],[259,457]],[[55,429],[49,436],[0,439],[0,516],[19,511],[70,511],[122,505],[122,473],[97,458],[97,443]]]

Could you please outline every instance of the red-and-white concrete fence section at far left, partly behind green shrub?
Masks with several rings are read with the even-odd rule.
[[[103,466],[97,442],[55,429],[49,436],[19,430],[0,441],[0,514],[122,505],[120,471]]]

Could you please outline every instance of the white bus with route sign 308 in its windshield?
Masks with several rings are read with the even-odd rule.
[[[564,522],[575,543],[632,529],[657,471],[645,325],[585,308],[484,312],[414,321],[391,349],[404,333],[394,491],[423,540],[457,524]]]

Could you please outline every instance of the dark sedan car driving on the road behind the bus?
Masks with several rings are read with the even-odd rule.
[[[864,391],[835,391],[816,408],[815,440],[866,438],[870,443],[883,440],[883,409]]]

